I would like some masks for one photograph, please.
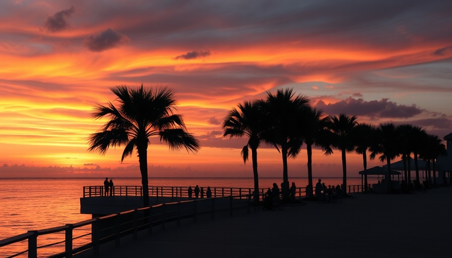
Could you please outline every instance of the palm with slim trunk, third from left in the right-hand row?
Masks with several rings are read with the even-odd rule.
[[[306,117],[303,119],[304,128],[302,135],[306,143],[306,152],[308,155],[308,189],[313,189],[312,183],[312,146],[320,147],[325,155],[332,153],[329,147],[328,124],[331,122],[330,116],[323,116],[323,110],[310,108]],[[312,196],[312,190],[306,190],[307,197]]]

